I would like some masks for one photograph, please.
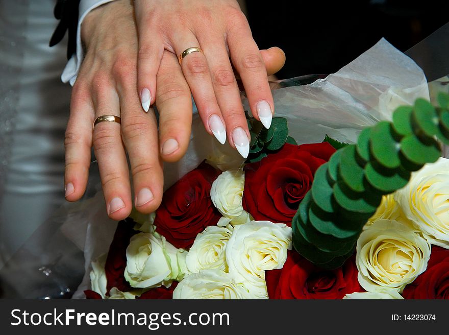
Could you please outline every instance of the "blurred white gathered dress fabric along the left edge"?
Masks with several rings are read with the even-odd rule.
[[[55,0],[0,0],[0,268],[64,199],[66,43]]]

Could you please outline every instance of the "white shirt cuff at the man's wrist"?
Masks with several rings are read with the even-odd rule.
[[[72,55],[67,64],[65,65],[64,71],[61,75],[61,80],[64,83],[69,82],[73,86],[77,80],[78,71],[80,70],[81,62],[83,61],[83,46],[81,44],[81,23],[83,22],[86,15],[98,6],[107,4],[114,0],[81,0],[79,7],[79,19],[77,28],[77,52]]]

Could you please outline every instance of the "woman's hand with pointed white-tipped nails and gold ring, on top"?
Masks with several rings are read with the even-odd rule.
[[[246,17],[235,0],[135,0],[139,33],[137,87],[142,107],[148,110],[156,97],[158,73],[164,50],[181,55],[181,68],[199,115],[210,134],[246,158],[250,133],[243,112],[233,67],[239,74],[253,115],[266,128],[274,112],[266,69]],[[232,60],[232,64],[230,61]],[[157,93],[156,93],[157,94]],[[176,118],[174,111],[170,118]],[[226,130],[225,130],[226,128]],[[184,132],[164,132],[161,155],[166,161],[183,154]]]

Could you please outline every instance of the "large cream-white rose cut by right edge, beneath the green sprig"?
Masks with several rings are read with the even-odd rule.
[[[413,173],[395,197],[432,244],[449,249],[449,159],[440,158]]]

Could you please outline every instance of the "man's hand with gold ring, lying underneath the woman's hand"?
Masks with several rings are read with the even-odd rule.
[[[65,136],[66,199],[77,201],[83,196],[93,146],[109,217],[122,220],[132,209],[127,153],[134,205],[142,213],[153,212],[163,192],[159,143],[176,134],[179,149],[169,156],[180,158],[190,138],[191,91],[178,58],[165,51],[160,60],[155,92],[160,112],[158,133],[156,117],[153,112],[142,112],[136,89],[138,41],[129,0],[116,0],[89,13],[82,38],[86,56],[73,86]],[[284,64],[284,54],[278,48],[261,51],[261,55],[268,74]],[[102,122],[92,130],[95,118],[108,114],[120,116],[121,125]]]

